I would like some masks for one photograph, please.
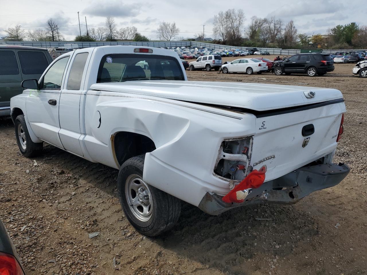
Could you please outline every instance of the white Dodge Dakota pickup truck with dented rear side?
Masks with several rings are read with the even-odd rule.
[[[187,81],[175,52],[137,46],[65,53],[22,87],[21,153],[47,142],[119,169],[121,206],[145,235],[172,228],[181,200],[213,215],[295,203],[349,172],[332,162],[346,111],[336,89]]]

